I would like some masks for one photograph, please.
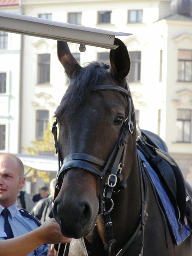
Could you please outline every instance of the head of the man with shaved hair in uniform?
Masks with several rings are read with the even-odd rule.
[[[24,167],[21,160],[12,154],[0,155],[0,204],[6,208],[14,204],[24,185]]]

